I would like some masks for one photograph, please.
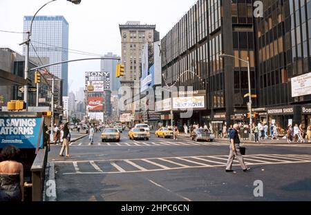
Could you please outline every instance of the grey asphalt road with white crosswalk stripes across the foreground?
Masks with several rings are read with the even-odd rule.
[[[85,137],[70,145],[72,158],[53,146],[57,201],[311,201],[311,145],[247,145],[243,172],[225,172],[227,141],[196,143],[189,138],[94,145]],[[254,181],[263,197],[254,196]]]

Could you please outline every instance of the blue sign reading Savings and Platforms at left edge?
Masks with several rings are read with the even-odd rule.
[[[13,145],[20,149],[43,147],[43,118],[0,117],[0,148]]]

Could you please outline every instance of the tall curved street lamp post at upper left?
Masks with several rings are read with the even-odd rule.
[[[37,10],[37,12],[35,13],[35,15],[32,17],[32,20],[30,22],[30,30],[28,32],[26,32],[27,34],[27,39],[26,41],[23,41],[23,43],[19,44],[19,45],[26,45],[26,54],[25,54],[25,70],[24,70],[24,79],[26,79],[26,81],[28,81],[28,72],[29,72],[29,44],[30,44],[30,36],[31,36],[31,32],[32,32],[32,24],[33,21],[35,20],[35,17],[37,15],[37,13],[44,8],[46,5],[48,5],[49,3],[52,3],[53,1],[57,1],[57,0],[52,0],[52,1],[48,1],[48,3],[45,3],[44,6],[41,6],[41,8],[39,8],[39,10]],[[81,0],[67,0],[70,1],[71,3],[74,4],[79,4],[81,3]],[[26,85],[24,85],[23,87],[24,92],[23,92],[23,101],[25,101],[26,104],[28,101],[28,85],[26,83]]]

